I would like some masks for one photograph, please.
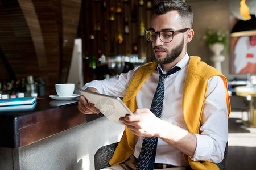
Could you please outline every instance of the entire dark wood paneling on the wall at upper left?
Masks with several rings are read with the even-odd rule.
[[[42,77],[46,94],[55,93],[67,82],[80,8],[81,0],[0,0],[1,58],[9,63],[0,61],[0,80]]]

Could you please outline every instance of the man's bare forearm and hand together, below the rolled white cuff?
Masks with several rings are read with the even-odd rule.
[[[138,137],[158,137],[186,155],[193,156],[196,150],[196,135],[161,120],[149,109],[137,109],[134,115],[119,118]]]

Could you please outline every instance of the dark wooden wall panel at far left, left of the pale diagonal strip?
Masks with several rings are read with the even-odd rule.
[[[16,78],[25,77],[28,62],[24,61],[26,61],[27,56],[30,57],[29,55],[33,54],[33,49],[30,50],[30,54],[27,54],[28,46],[32,44],[32,40],[28,36],[29,30],[24,24],[26,20],[18,2],[2,2],[1,21],[0,27],[3,31],[0,32],[0,46],[2,52],[12,67]]]

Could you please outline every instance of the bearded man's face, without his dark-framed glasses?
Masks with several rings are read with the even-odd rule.
[[[150,29],[154,31],[175,31],[185,28],[180,23],[177,11],[171,11],[163,15],[154,14],[150,26]],[[175,33],[174,39],[169,43],[164,43],[159,36],[156,36],[156,40],[152,42],[152,47],[156,62],[160,64],[171,63],[177,57],[185,55],[184,33]]]

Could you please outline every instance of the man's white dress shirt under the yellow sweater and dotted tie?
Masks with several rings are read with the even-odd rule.
[[[183,129],[188,129],[182,112],[182,97],[185,78],[188,71],[189,56],[184,58],[176,66],[181,70],[168,75],[164,80],[164,101],[162,119],[166,119]],[[158,65],[160,67],[160,65]],[[123,97],[131,78],[138,67],[118,77],[94,80],[87,83],[83,88],[94,87],[100,93]],[[139,90],[136,101],[138,109],[150,109],[153,96],[159,80],[159,73],[155,70]],[[195,99],[196,100],[196,99]],[[191,111],[193,112],[193,111]],[[222,78],[214,76],[208,81],[207,94],[204,101],[201,118],[200,134],[196,134],[197,146],[192,160],[204,160],[219,163],[223,159],[226,142],[228,141],[228,111],[226,108],[225,88]],[[142,137],[135,137],[134,156],[138,158],[142,146]],[[155,163],[186,166],[183,154],[174,147],[168,145],[162,139],[158,139]]]

